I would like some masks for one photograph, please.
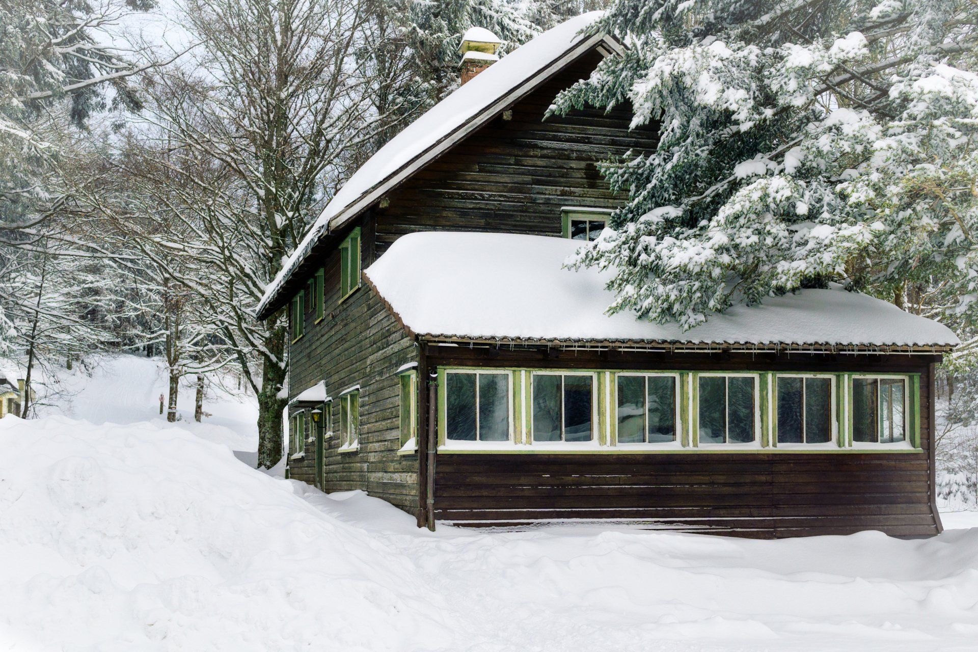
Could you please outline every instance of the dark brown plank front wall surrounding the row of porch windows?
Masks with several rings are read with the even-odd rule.
[[[443,454],[436,518],[466,525],[638,519],[649,528],[781,538],[937,534],[930,481],[930,356],[645,354],[431,347],[432,365],[922,373],[919,453]]]

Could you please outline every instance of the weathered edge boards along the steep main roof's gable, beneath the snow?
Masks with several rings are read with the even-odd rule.
[[[502,114],[502,112],[506,110],[508,106],[518,101],[526,94],[532,92],[534,88],[556,73],[559,68],[563,67],[589,50],[598,47],[599,45],[606,46],[609,53],[618,54],[622,53],[625,47],[624,44],[621,43],[621,41],[619,41],[615,36],[605,32],[593,34],[582,41],[572,44],[571,47],[564,50],[563,53],[556,58],[550,60],[549,63],[541,65],[539,68],[537,68],[534,73],[530,74],[529,77],[524,79],[521,83],[514,85],[509,93],[504,94],[503,97],[497,99],[497,101],[493,102],[485,109],[478,111],[458,127],[442,135],[441,138],[422,150],[422,152],[419,152],[407,164],[387,175],[370,189],[361,193],[356,199],[341,207],[333,216],[329,217],[328,219],[324,219],[326,217],[326,211],[330,208],[330,206],[327,205],[323,213],[320,214],[320,217],[317,219],[316,223],[314,223],[313,227],[309,230],[309,233],[306,234],[305,238],[302,239],[296,250],[291,254],[291,256],[289,256],[289,260],[283,266],[282,271],[280,271],[276,278],[268,284],[265,295],[261,298],[261,300],[258,302],[258,306],[255,308],[255,317],[259,320],[267,319],[271,316],[272,312],[284,305],[285,299],[280,296],[282,289],[286,283],[289,282],[295,271],[302,265],[303,262],[305,262],[306,258],[309,256],[309,253],[320,239],[332,233],[334,230],[341,229],[350,220],[354,219],[360,213],[370,207],[371,204],[378,201],[380,196],[389,192],[393,187],[400,184],[407,177],[417,171],[422,165],[430,162],[435,157],[454,146],[469,133],[475,131],[486,122],[490,121],[497,115]],[[515,53],[511,53],[509,57],[511,57],[513,54]],[[469,82],[469,84],[471,83],[472,82]],[[444,100],[442,102],[444,102]],[[437,107],[437,105],[435,105],[435,107]],[[377,154],[375,154],[375,156],[376,155]],[[370,161],[368,160],[368,162]]]

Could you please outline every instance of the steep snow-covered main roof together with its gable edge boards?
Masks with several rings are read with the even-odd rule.
[[[591,12],[545,31],[490,65],[390,139],[323,209],[282,271],[265,288],[257,314],[264,316],[276,302],[289,276],[324,235],[343,226],[423,164],[508,109],[567,62],[602,41],[608,48],[618,49],[617,41],[607,34],[581,34],[600,16],[601,12]]]

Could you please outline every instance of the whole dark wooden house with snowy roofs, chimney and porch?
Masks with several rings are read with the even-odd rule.
[[[597,163],[654,148],[627,107],[545,117],[615,56],[565,22],[495,61],[339,191],[272,283],[289,307],[289,474],[435,521],[615,519],[750,537],[941,530],[949,329],[839,288],[682,331],[608,317],[562,263],[621,205]],[[474,50],[473,50],[474,49]],[[470,72],[471,70],[469,70]]]

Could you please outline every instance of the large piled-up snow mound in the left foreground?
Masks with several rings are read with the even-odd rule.
[[[0,647],[379,651],[447,635],[400,551],[189,432],[6,417],[0,451]]]

